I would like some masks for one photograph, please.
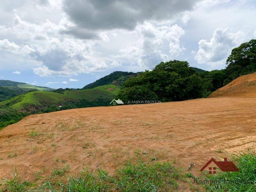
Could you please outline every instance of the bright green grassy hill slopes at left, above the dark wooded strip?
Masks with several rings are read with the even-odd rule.
[[[0,102],[0,108],[10,110],[34,111],[47,108],[51,105],[63,105],[69,102],[87,101],[111,101],[115,98],[119,87],[104,85],[88,90],[67,90],[62,94],[57,92],[28,92],[18,95],[9,100]]]

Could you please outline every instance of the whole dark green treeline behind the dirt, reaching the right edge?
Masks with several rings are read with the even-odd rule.
[[[235,78],[256,71],[256,40],[234,48],[226,64],[225,69],[199,73],[187,61],[161,62],[152,71],[128,79],[116,98],[180,101],[207,97]]]

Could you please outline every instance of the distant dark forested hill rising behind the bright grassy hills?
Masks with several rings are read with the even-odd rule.
[[[137,73],[133,73],[133,72],[114,71],[114,72],[110,73],[109,75],[102,77],[102,78],[98,79],[97,81],[84,86],[82,89],[92,89],[92,88],[95,88],[95,87],[98,87],[101,85],[109,85],[109,84],[112,84],[113,81],[117,80],[120,77],[126,76],[126,78],[128,79],[132,76],[136,76],[136,74]],[[116,83],[115,85],[121,86],[121,84],[118,84],[118,83]]]

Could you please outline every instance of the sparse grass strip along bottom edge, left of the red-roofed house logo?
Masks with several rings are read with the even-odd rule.
[[[78,175],[66,177],[69,168],[56,168],[48,178],[38,177],[43,178],[40,185],[39,180],[20,180],[15,170],[15,177],[4,180],[0,191],[171,191],[178,187],[177,180],[181,178],[180,169],[171,163],[146,164],[141,160],[127,161],[112,176],[101,168],[96,172],[83,168]]]

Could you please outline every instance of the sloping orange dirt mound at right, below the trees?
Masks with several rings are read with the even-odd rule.
[[[255,97],[256,96],[256,73],[236,78],[229,84],[213,92],[209,97]]]

